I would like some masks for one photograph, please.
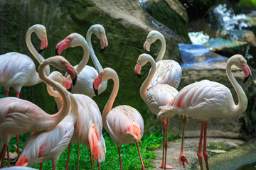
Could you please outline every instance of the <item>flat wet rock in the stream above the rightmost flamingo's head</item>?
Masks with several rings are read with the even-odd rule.
[[[208,42],[203,44],[203,47],[206,47],[219,55],[231,57],[236,54],[246,56],[248,44],[247,42],[231,41],[223,38],[211,38]]]

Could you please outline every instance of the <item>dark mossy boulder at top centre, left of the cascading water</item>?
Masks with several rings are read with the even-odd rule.
[[[188,38],[188,14],[178,0],[149,0],[144,7],[157,21],[179,35],[178,42],[191,43]]]

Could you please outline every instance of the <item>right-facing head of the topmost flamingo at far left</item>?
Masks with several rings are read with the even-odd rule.
[[[46,28],[41,24],[35,24],[31,28],[35,31],[36,35],[41,40],[41,47],[40,47],[40,50],[38,51],[38,53],[41,53],[48,46]]]

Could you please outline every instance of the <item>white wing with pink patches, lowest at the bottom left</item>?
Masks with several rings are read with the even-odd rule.
[[[62,121],[50,132],[33,132],[26,141],[21,157],[16,165],[22,165],[21,160],[26,157],[28,166],[52,160],[57,164],[73,136],[73,123]],[[23,162],[24,163],[24,162]]]

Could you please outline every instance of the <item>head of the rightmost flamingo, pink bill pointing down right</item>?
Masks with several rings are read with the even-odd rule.
[[[234,55],[233,57],[230,57],[230,62],[232,64],[235,64],[238,68],[242,69],[242,72],[245,74],[244,83],[249,79],[250,76],[252,76],[252,72],[250,70],[250,67],[247,65],[246,60],[242,55]]]

